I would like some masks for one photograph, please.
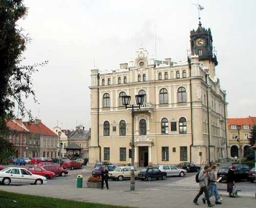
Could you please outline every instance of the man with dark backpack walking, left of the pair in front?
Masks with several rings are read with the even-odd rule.
[[[204,166],[204,170],[201,170],[198,175],[200,191],[197,194],[197,196],[195,197],[195,199],[193,200],[193,203],[196,205],[199,205],[199,203],[197,202],[198,198],[204,193],[208,207],[212,207],[212,206],[214,206],[214,204],[211,204],[210,199],[209,199],[209,192],[208,192],[209,174],[208,174],[208,171],[210,171],[210,168],[208,165],[206,165],[206,166]]]

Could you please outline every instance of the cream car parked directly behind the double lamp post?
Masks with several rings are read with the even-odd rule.
[[[123,178],[131,178],[132,167],[131,166],[120,166],[115,167],[113,171],[110,171],[110,178],[116,180],[122,180]],[[140,171],[134,170],[135,178],[139,178],[138,174]]]

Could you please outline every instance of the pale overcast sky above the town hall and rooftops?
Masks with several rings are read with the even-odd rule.
[[[26,106],[53,128],[90,127],[90,70],[118,69],[142,43],[150,55],[186,61],[190,30],[198,27],[197,0],[25,0],[28,15],[18,22],[31,38],[26,65],[49,61],[33,75],[39,104]],[[254,62],[256,1],[199,1],[203,27],[217,50],[228,117],[256,116]],[[26,118],[25,118],[26,119]]]

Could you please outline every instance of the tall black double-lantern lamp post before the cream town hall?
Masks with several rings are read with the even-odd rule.
[[[144,95],[135,95],[136,99],[136,104],[139,106],[135,106],[134,104],[130,105],[131,101],[131,96],[129,95],[124,95],[122,96],[122,103],[123,106],[125,106],[125,109],[132,109],[132,142],[131,142],[131,147],[132,147],[132,168],[131,168],[131,187],[130,190],[134,191],[135,190],[135,174],[134,174],[134,114],[135,114],[135,109],[138,108],[140,109],[140,105],[142,105],[144,101]]]

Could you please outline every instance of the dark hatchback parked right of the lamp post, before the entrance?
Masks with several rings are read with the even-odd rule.
[[[152,178],[165,180],[167,177],[167,173],[159,170],[156,167],[150,167],[150,168],[148,167],[148,168],[143,168],[139,172],[138,176],[141,180],[151,181]]]

